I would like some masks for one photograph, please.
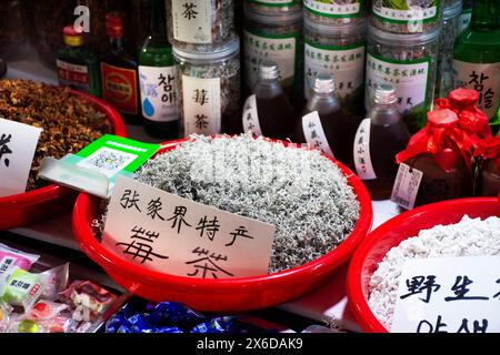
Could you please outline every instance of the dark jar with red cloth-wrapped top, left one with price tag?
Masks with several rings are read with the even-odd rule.
[[[456,133],[458,126],[459,120],[451,110],[429,112],[427,126],[397,155],[398,162],[403,161],[410,171],[422,173],[414,206],[472,196],[470,158],[464,158],[468,152],[459,148],[463,134]]]

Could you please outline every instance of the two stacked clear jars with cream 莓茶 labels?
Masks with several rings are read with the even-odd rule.
[[[181,133],[227,133],[240,104],[233,0],[166,0],[166,9],[178,65]]]

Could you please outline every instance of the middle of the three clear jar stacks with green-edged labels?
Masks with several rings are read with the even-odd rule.
[[[366,3],[304,0],[304,95],[314,79],[332,74],[342,106],[362,114],[364,91]]]

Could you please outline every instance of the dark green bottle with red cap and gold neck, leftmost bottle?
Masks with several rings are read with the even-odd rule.
[[[62,33],[64,47],[56,60],[59,84],[100,98],[99,60],[84,45],[83,32],[67,26]]]

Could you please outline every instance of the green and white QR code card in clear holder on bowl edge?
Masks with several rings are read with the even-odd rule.
[[[109,199],[118,175],[131,175],[160,149],[112,134],[106,134],[77,154],[61,160],[46,158],[39,178]]]

